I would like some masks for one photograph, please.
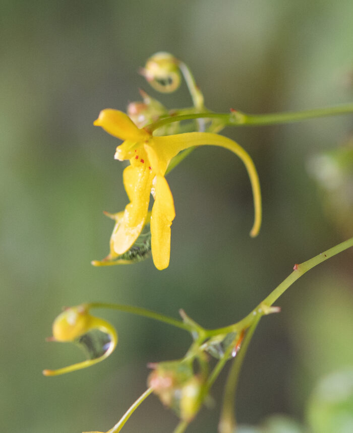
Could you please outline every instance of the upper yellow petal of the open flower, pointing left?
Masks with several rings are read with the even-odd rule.
[[[104,131],[121,140],[138,142],[149,137],[145,130],[137,128],[127,114],[112,108],[102,110],[93,125],[102,127]]]

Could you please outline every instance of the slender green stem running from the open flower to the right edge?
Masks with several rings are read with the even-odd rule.
[[[336,105],[326,108],[316,108],[303,111],[288,111],[284,113],[269,114],[246,114],[241,111],[232,111],[231,113],[190,113],[178,116],[166,117],[156,122],[150,123],[146,128],[148,131],[154,131],[168,123],[178,122],[181,120],[190,120],[197,118],[218,118],[223,121],[224,126],[261,126],[277,125],[278,123],[291,123],[306,120],[315,117],[334,116],[338,114],[348,114],[353,112],[353,103]]]

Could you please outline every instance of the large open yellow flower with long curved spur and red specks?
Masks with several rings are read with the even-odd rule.
[[[94,121],[107,133],[124,140],[116,148],[115,159],[130,160],[123,179],[130,203],[126,206],[119,228],[113,232],[111,244],[117,255],[124,254],[134,244],[146,223],[150,194],[154,198],[151,213],[151,246],[154,265],[165,269],[170,256],[170,225],[175,217],[174,202],[164,177],[171,159],[192,146],[213,145],[229,149],[244,162],[252,184],[255,221],[250,232],[256,236],[261,225],[261,193],[255,165],[239,144],[212,133],[192,132],[153,137],[139,129],[122,111],[104,109]]]

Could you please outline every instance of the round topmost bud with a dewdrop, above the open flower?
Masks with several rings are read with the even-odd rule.
[[[181,83],[179,61],[168,52],[157,52],[150,57],[141,69],[141,74],[158,92],[171,93],[178,89]]]

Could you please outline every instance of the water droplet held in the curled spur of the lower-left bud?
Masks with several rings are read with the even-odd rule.
[[[88,359],[96,359],[103,356],[114,344],[111,336],[99,329],[92,329],[75,340]]]

